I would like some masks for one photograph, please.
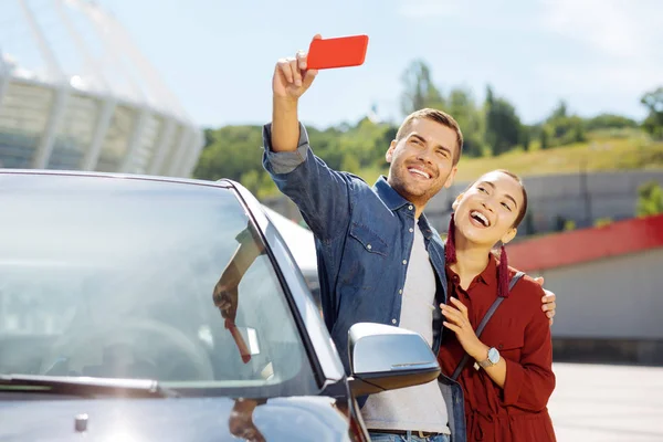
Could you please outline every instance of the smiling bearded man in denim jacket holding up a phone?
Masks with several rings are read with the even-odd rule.
[[[389,176],[370,188],[354,175],[329,169],[308,146],[297,108],[316,74],[306,69],[304,52],[276,64],[263,164],[315,234],[325,323],[346,372],[347,334],[358,322],[417,332],[436,354],[442,317],[435,306],[446,293],[444,245],[422,212],[452,185],[462,133],[442,112],[410,115],[387,150]],[[551,293],[543,299],[550,318],[554,301]],[[453,400],[445,400],[436,381],[370,396],[362,415],[371,438],[443,442],[453,433],[454,442],[464,440],[462,399],[455,400],[462,392],[455,387]]]

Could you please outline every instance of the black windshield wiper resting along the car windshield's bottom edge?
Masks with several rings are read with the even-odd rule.
[[[73,376],[0,375],[0,391],[120,398],[176,398],[179,394],[152,379],[87,378]]]

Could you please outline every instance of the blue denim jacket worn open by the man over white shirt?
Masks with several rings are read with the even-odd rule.
[[[393,190],[385,177],[371,188],[355,175],[327,167],[311,150],[303,125],[295,151],[274,152],[270,140],[271,125],[265,125],[263,166],[278,189],[297,204],[314,233],[323,315],[349,375],[349,328],[360,322],[399,325],[414,240],[414,204]],[[443,328],[436,306],[446,298],[444,243],[423,214],[418,225],[438,282],[431,324],[436,355]],[[462,389],[444,376],[440,388],[450,420],[456,423],[453,440],[464,441]],[[459,427],[459,422],[463,424]]]

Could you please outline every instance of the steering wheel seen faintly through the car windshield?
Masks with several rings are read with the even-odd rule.
[[[125,345],[133,350],[131,355],[151,359],[155,371],[162,372],[164,368],[173,361],[187,371],[186,379],[164,379],[162,376],[151,376],[152,379],[214,380],[214,369],[210,358],[199,343],[170,325],[146,318],[128,318],[102,326],[87,324],[87,327],[77,327],[76,330],[63,335],[51,347],[52,350],[42,362],[40,373],[45,375],[63,359],[70,367],[83,367],[86,365],[85,361],[91,359],[99,360],[102,357],[91,357],[91,354],[98,355],[99,349],[108,348],[113,344]],[[173,349],[177,355],[175,358],[171,356]],[[165,351],[170,355],[165,357]]]

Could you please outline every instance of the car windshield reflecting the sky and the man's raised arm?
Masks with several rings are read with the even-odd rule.
[[[0,175],[0,375],[155,379],[193,394],[316,389],[232,188]],[[241,245],[263,252],[243,261],[236,296],[219,298]]]

